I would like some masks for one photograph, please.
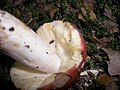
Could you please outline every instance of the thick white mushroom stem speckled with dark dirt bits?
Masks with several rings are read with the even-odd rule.
[[[42,72],[58,72],[60,67],[60,58],[32,29],[2,10],[0,10],[0,49],[20,63]]]

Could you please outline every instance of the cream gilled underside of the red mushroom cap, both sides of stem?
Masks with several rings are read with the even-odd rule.
[[[53,21],[41,26],[37,30],[37,34],[45,45],[60,57],[61,63],[58,73],[67,73],[73,67],[77,71],[79,64],[83,62],[81,50],[83,42],[81,42],[80,33],[73,25],[69,22]],[[17,62],[10,71],[15,86],[22,90],[37,90],[52,82],[54,82],[54,87],[61,88],[70,77],[65,77],[65,79],[61,77],[60,81],[55,82],[58,73],[44,74]]]

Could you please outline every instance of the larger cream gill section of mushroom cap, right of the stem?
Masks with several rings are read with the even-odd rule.
[[[65,67],[70,69],[71,66],[81,62],[80,33],[69,22],[53,21],[46,23],[37,30],[37,34],[43,39],[47,47],[60,57],[60,70],[62,68],[65,70]]]

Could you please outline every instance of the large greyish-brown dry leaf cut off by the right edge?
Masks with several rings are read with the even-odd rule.
[[[102,48],[107,54],[110,61],[107,61],[108,72],[111,76],[120,75],[120,52],[112,49]]]

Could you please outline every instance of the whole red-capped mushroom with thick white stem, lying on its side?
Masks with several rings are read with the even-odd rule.
[[[57,20],[35,33],[2,10],[0,49],[16,60],[10,76],[20,90],[66,90],[86,57],[84,40],[73,24]]]

